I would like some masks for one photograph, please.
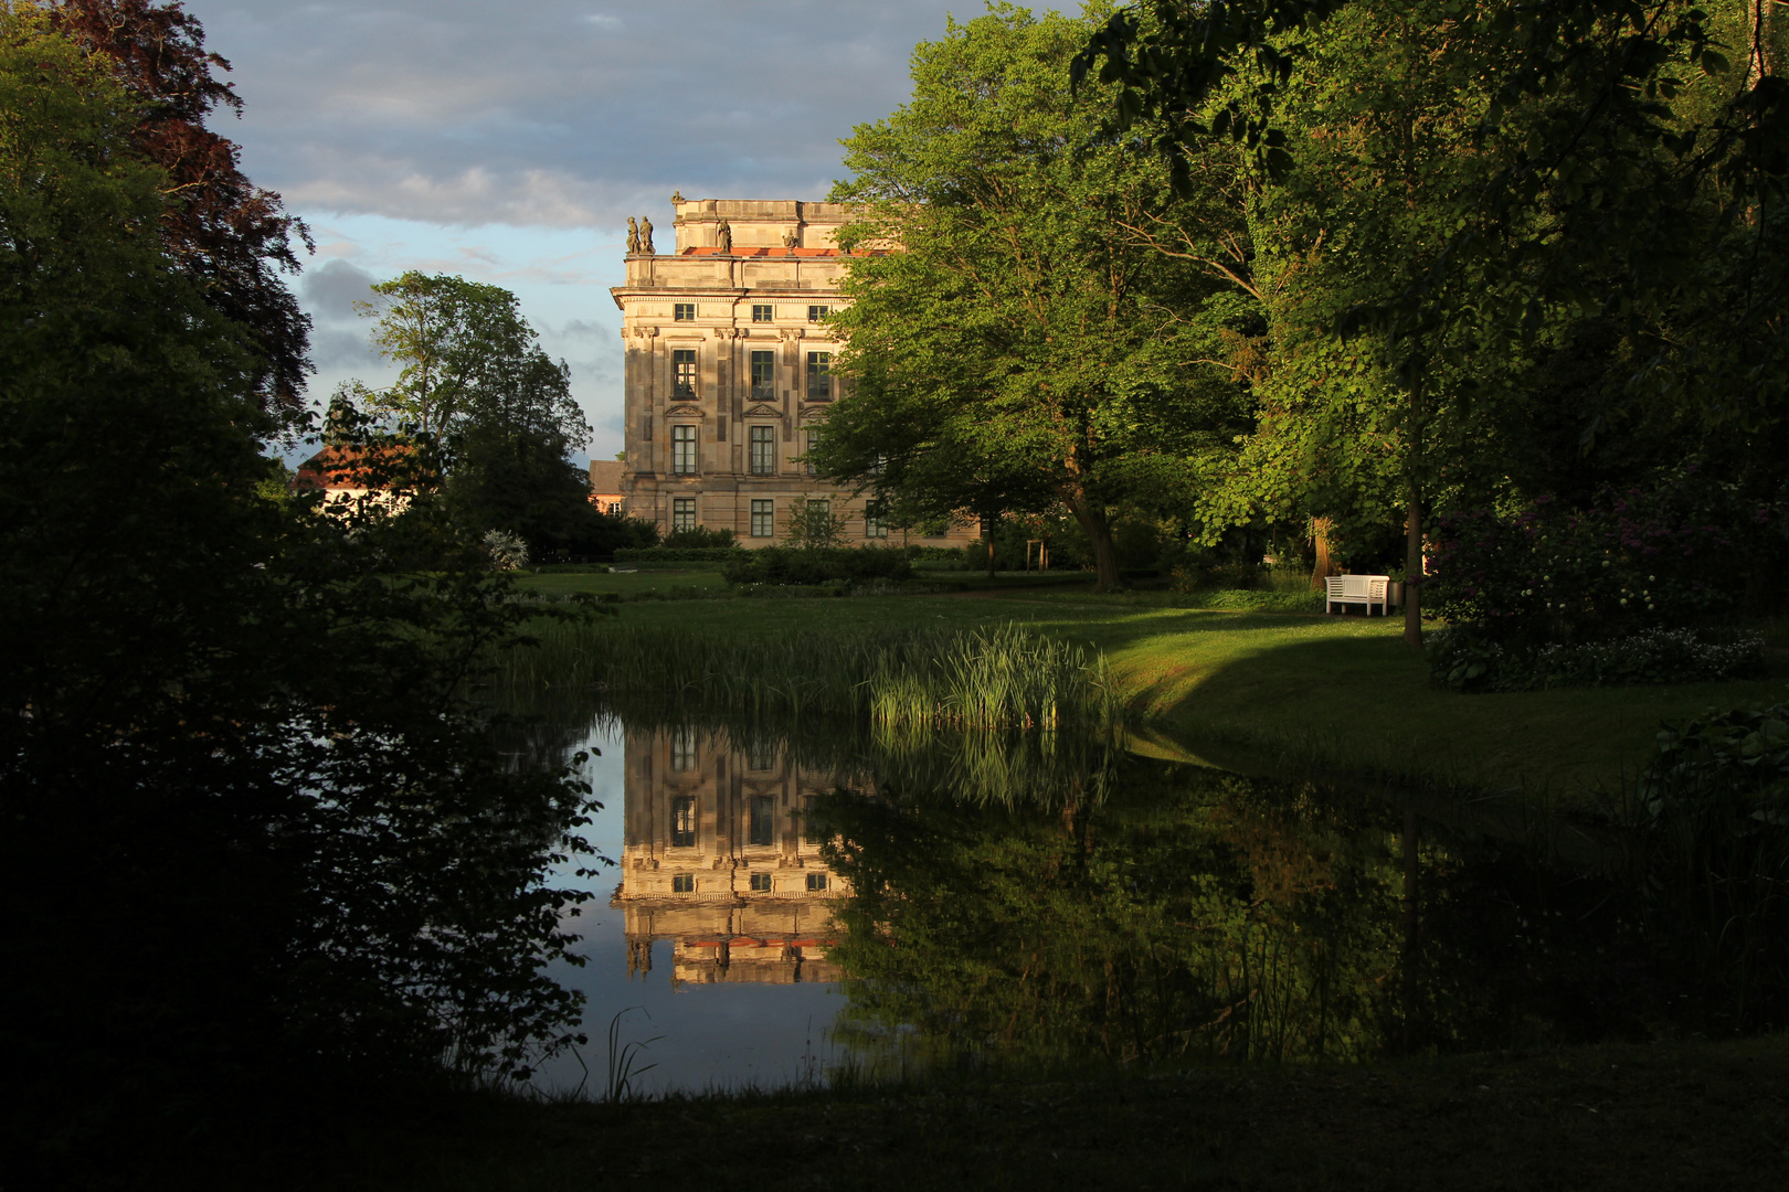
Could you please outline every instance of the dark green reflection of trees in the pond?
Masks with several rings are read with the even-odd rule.
[[[1608,879],[1388,806],[1127,761],[1102,804],[823,804],[855,1049],[1361,1060],[1644,1035],[1692,999]]]

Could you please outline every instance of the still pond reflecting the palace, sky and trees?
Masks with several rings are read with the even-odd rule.
[[[1735,954],[1619,833],[1513,802],[1249,779],[1154,738],[589,708],[549,738],[599,751],[585,831],[615,867],[574,922],[587,965],[555,972],[590,1042],[547,1088],[587,1065],[601,1095],[612,1024],[651,1094],[1782,1019],[1780,949]]]

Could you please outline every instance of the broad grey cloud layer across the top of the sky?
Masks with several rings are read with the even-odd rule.
[[[619,229],[689,197],[821,198],[837,139],[905,100],[941,0],[199,0],[297,209]]]

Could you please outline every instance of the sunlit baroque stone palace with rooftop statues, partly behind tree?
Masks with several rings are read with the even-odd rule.
[[[844,518],[846,541],[909,540],[803,459],[839,395],[827,316],[839,306],[846,207],[671,202],[674,250],[655,252],[642,223],[628,238],[628,282],[610,291],[626,345],[626,513],[664,534],[730,529],[746,547],[767,547],[818,502]],[[975,534],[950,527],[911,540],[962,545]]]

